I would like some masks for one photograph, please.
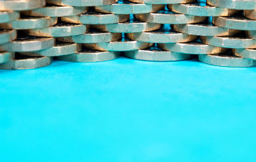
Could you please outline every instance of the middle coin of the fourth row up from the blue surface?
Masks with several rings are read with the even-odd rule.
[[[106,25],[93,25],[99,31],[106,31],[110,33],[137,33],[143,31],[154,31],[161,27],[161,24],[148,22],[124,22]]]

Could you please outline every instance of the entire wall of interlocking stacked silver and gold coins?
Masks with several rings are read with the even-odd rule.
[[[255,0],[0,0],[0,68],[191,57],[256,66]]]

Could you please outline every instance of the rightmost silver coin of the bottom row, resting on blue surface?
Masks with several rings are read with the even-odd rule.
[[[249,68],[256,66],[255,60],[245,59],[243,57],[238,57],[236,55],[198,55],[198,60],[205,64],[211,64],[215,66],[226,66],[230,68]]]

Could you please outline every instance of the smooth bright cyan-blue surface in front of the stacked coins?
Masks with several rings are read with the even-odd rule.
[[[121,57],[0,75],[0,161],[256,159],[256,68]]]

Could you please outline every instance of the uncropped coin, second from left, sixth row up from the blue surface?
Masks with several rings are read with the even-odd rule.
[[[54,6],[47,4],[42,8],[35,10],[23,11],[23,15],[33,17],[65,17],[72,15],[79,15],[88,11],[88,7],[73,7],[73,6]]]

